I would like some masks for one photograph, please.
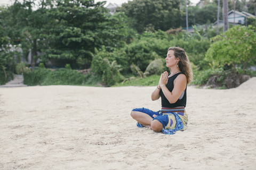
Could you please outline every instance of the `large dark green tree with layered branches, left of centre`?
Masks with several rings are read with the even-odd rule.
[[[128,36],[124,29],[125,16],[111,16],[104,7],[106,2],[58,0],[56,3],[47,13],[43,61],[87,69],[95,48],[105,46],[111,51],[124,44],[120,42]]]

